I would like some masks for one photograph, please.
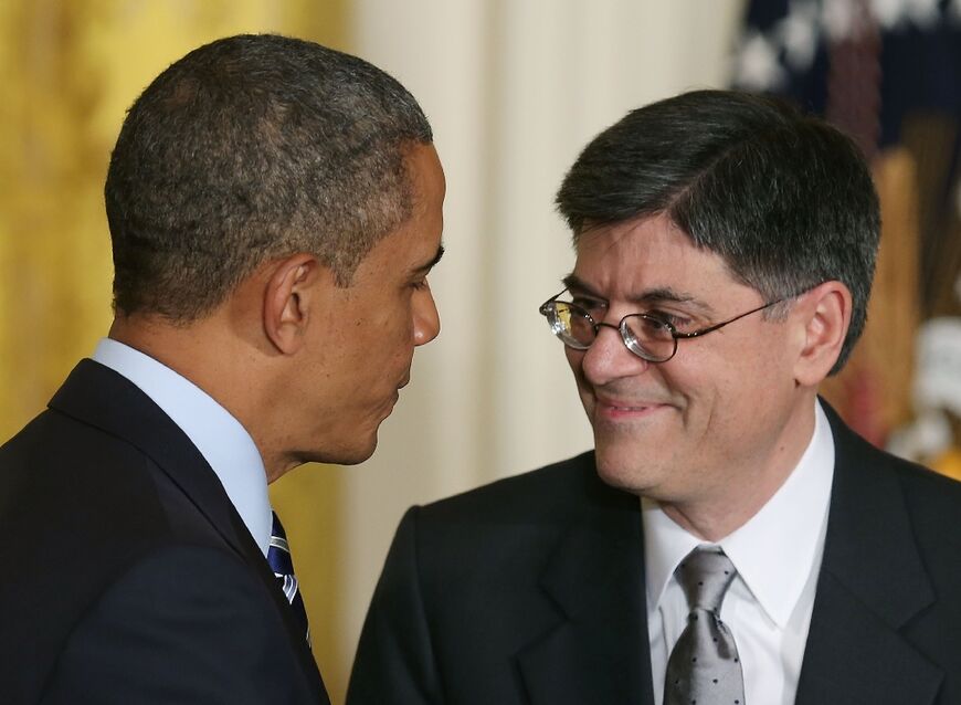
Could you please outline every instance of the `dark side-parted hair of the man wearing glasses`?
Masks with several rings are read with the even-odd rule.
[[[870,173],[848,137],[780,99],[694,91],[632,111],[584,148],[557,204],[574,242],[664,213],[769,301],[844,283],[854,305],[832,373],[864,329],[880,230]]]

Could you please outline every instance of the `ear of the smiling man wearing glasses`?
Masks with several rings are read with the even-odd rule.
[[[794,379],[805,387],[821,383],[837,356],[851,325],[852,296],[841,282],[824,282],[801,297],[790,315],[801,317],[801,350]]]

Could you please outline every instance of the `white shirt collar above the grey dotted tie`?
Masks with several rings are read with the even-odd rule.
[[[834,478],[834,439],[820,402],[814,433],[794,471],[743,526],[717,543],[774,623],[791,617],[814,562],[823,550],[823,527]],[[680,560],[704,544],[642,498],[647,604],[659,604]]]

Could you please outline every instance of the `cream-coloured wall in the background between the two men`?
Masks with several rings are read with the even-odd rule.
[[[538,305],[573,264],[553,192],[627,109],[727,82],[741,0],[357,0],[355,49],[421,101],[447,173],[442,333],[345,469],[345,653],[403,511],[560,460],[591,435]]]

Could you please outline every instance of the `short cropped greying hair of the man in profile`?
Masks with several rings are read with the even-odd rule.
[[[189,322],[300,251],[349,285],[409,218],[405,155],[431,140],[413,96],[356,56],[273,34],[193,50],[137,98],[110,158],[115,309]]]

